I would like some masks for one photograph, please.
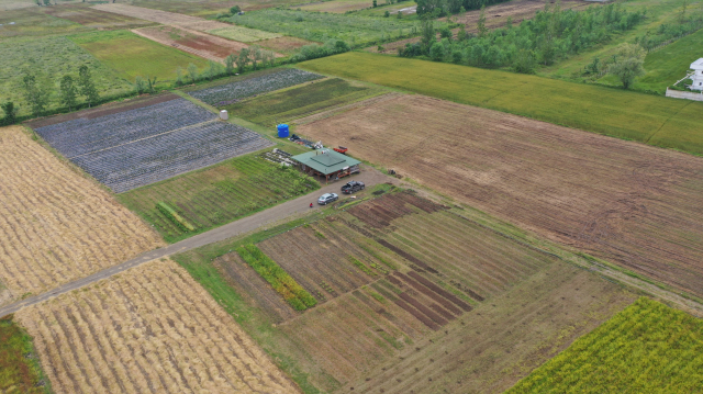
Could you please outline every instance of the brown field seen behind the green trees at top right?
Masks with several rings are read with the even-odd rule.
[[[550,7],[555,7],[556,2],[549,0]],[[529,20],[535,16],[535,13],[539,10],[544,10],[545,2],[544,0],[512,0],[504,3],[499,3],[494,5],[490,5],[486,8],[486,27],[488,29],[498,29],[503,27],[507,23],[507,19],[513,19],[513,25],[518,24],[524,20]],[[581,10],[588,7],[594,5],[598,3],[588,2],[583,0],[565,0],[560,2],[560,7],[562,10],[573,9]],[[462,23],[467,33],[477,33],[478,32],[478,21],[481,10],[468,11],[464,14],[464,16],[453,15],[451,20],[456,23]],[[446,22],[446,18],[440,19],[440,21]],[[459,29],[454,29],[454,36],[456,37],[459,33]],[[437,35],[438,36],[438,35]],[[398,48],[405,47],[405,44],[419,43],[420,37],[405,38],[401,41],[397,41],[393,43],[383,44],[383,50],[381,54],[397,54]],[[378,46],[369,47],[366,50],[379,53]]]

